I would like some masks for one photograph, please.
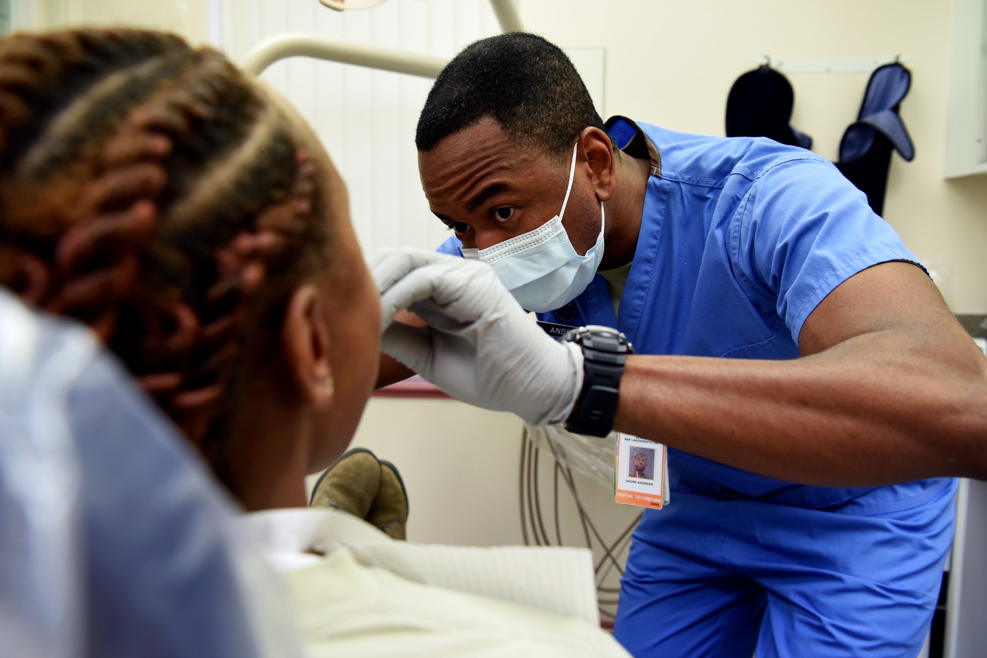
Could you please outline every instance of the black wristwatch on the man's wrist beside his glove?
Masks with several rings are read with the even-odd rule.
[[[616,329],[597,325],[572,329],[562,341],[580,346],[583,356],[582,390],[566,428],[577,434],[606,436],[617,413],[624,362],[634,354],[634,346]]]

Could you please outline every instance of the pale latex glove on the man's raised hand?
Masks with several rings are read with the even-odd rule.
[[[582,387],[582,350],[542,331],[485,263],[413,247],[370,259],[381,292],[381,350],[452,397],[562,423]],[[428,323],[394,322],[409,309]]]

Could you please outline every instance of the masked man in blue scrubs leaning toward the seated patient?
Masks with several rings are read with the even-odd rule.
[[[634,535],[618,639],[638,656],[916,655],[952,539],[945,476],[987,474],[987,361],[864,194],[771,140],[604,124],[531,34],[453,59],[417,144],[455,231],[439,251],[488,262],[541,320],[634,344],[612,427],[669,446],[672,503]],[[380,383],[410,372],[385,359]]]

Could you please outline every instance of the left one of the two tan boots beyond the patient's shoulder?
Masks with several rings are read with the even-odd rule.
[[[310,507],[335,507],[366,518],[381,483],[377,457],[365,448],[353,448],[333,462],[312,490]]]

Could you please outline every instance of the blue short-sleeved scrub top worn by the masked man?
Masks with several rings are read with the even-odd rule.
[[[809,151],[624,117],[607,127],[625,152],[634,147],[634,155],[651,161],[620,317],[597,274],[572,304],[539,313],[542,320],[616,327],[638,354],[796,359],[802,324],[833,289],[878,263],[920,265],[865,194]],[[438,250],[462,255],[461,246],[453,236]],[[952,484],[941,478],[869,489],[807,487],[673,448],[668,456],[673,489],[815,509],[855,501],[861,512],[874,513],[905,500],[918,504]]]

